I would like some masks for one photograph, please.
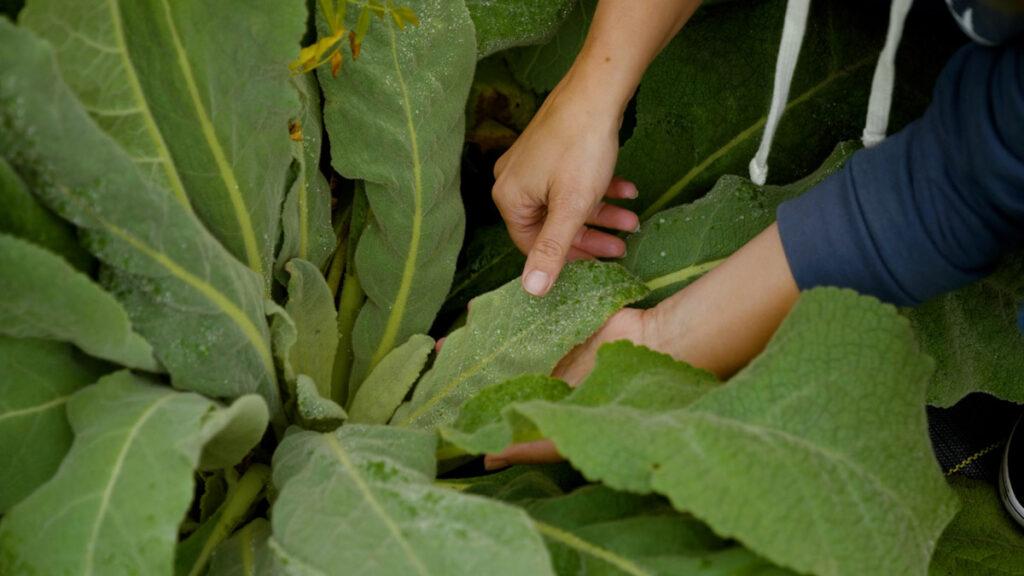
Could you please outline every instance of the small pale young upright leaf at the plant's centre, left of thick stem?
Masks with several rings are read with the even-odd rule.
[[[338,351],[334,294],[312,263],[296,258],[285,269],[292,276],[285,310],[296,330],[295,343],[288,353],[289,364],[295,373],[312,378],[319,396],[331,398],[331,371]]]

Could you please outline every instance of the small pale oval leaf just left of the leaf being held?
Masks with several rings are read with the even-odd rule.
[[[385,356],[355,393],[349,408],[350,421],[357,424],[387,423],[419,379],[433,348],[433,338],[415,334]]]

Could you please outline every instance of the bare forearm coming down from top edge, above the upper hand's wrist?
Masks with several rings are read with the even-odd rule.
[[[700,0],[600,0],[561,89],[586,94],[595,113],[622,116],[640,78]]]

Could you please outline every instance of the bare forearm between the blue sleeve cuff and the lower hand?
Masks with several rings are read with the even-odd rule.
[[[647,311],[643,343],[725,378],[764,349],[799,296],[772,224]]]

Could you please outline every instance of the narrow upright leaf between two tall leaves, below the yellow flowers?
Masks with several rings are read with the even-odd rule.
[[[302,141],[292,142],[297,173],[285,197],[281,214],[282,245],[276,262],[279,279],[282,278],[280,269],[293,258],[302,258],[323,269],[336,242],[334,229],[331,228],[331,187],[319,171],[324,133],[319,84],[312,74],[295,76],[292,82],[302,105],[296,118],[301,126]]]

